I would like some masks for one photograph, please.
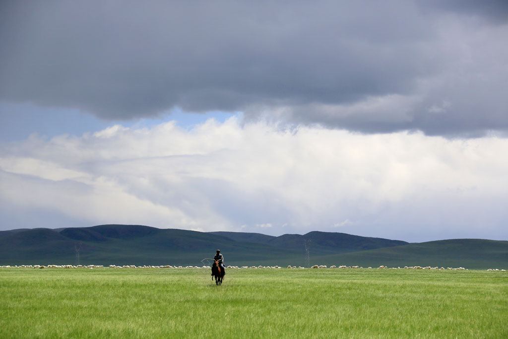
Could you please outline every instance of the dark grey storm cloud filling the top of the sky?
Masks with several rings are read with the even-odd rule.
[[[505,129],[505,7],[467,4],[4,2],[0,99],[106,119],[178,106],[362,132]],[[462,41],[476,12],[479,36]],[[458,60],[471,43],[487,55]]]

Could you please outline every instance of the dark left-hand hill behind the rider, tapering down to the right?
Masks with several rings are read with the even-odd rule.
[[[60,232],[33,229],[0,237],[0,264],[203,265],[220,248],[227,264],[277,257],[295,251],[235,241],[215,234],[140,225],[101,225]],[[78,260],[79,254],[79,260]],[[234,259],[233,259],[234,258]]]

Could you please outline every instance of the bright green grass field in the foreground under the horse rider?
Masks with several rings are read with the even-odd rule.
[[[508,337],[508,272],[0,268],[0,337]]]

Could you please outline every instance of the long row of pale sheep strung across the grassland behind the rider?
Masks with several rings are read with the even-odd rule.
[[[15,266],[10,266],[10,265],[6,265],[6,266],[0,266],[0,268],[9,268],[9,267],[24,267],[24,268],[100,268],[100,267],[104,267],[103,265],[15,265]],[[171,265],[163,265],[163,266],[146,266],[146,265],[143,265],[143,266],[136,266],[136,265],[123,265],[123,266],[117,266],[117,265],[109,265],[109,268],[207,268],[209,269],[210,266],[171,266]],[[279,267],[279,266],[241,266],[241,267],[238,267],[238,266],[227,266],[227,268],[282,268],[282,267]],[[288,266],[289,269],[294,269],[294,268],[297,268],[296,266],[291,266],[289,265]],[[301,266],[298,266],[298,268],[305,268],[305,267],[301,267]],[[311,268],[327,268],[326,265],[314,265],[312,266]],[[363,267],[358,267],[358,266],[346,266],[346,265],[342,265],[342,266],[330,266],[330,268],[363,268]],[[368,268],[372,268],[372,267],[368,267]],[[381,265],[378,267],[379,268],[389,268],[387,266],[384,266],[384,265]],[[400,267],[392,267],[392,269],[402,269]],[[445,269],[444,267],[430,267],[430,266],[427,266],[427,267],[421,267],[421,266],[404,266],[403,269]],[[453,269],[453,270],[465,270],[466,268],[464,267],[458,267],[458,268],[453,268],[453,267],[447,267],[446,269]],[[505,271],[504,269],[498,269],[498,268],[489,268],[488,271]]]

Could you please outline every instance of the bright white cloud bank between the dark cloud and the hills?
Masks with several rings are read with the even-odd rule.
[[[279,130],[234,117],[192,130],[114,127],[2,145],[0,200],[90,226],[508,238],[507,147],[497,137]],[[3,211],[4,229],[14,213]]]

